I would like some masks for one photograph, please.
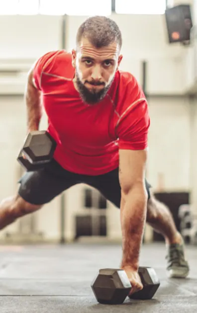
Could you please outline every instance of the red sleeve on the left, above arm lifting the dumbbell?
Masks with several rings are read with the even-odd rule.
[[[36,62],[33,71],[33,82],[39,90],[42,90],[42,73],[47,72],[50,68],[50,64],[53,60],[53,56],[56,54],[56,51],[48,52],[41,56]]]

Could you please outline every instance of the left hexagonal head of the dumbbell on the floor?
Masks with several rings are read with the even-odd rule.
[[[122,304],[131,290],[131,284],[124,270],[100,269],[91,288],[100,304]]]

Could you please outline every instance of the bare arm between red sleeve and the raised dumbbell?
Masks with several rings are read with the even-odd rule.
[[[33,85],[32,74],[28,78],[25,101],[27,109],[27,132],[38,130],[42,116],[41,96],[40,91]]]

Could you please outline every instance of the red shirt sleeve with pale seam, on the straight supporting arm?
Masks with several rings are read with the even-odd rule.
[[[133,78],[124,98],[124,110],[116,124],[119,149],[144,150],[148,147],[150,117],[145,95]]]

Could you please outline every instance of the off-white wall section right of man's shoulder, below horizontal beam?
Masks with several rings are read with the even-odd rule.
[[[190,105],[185,98],[149,100],[151,126],[147,175],[158,190],[190,189]]]

